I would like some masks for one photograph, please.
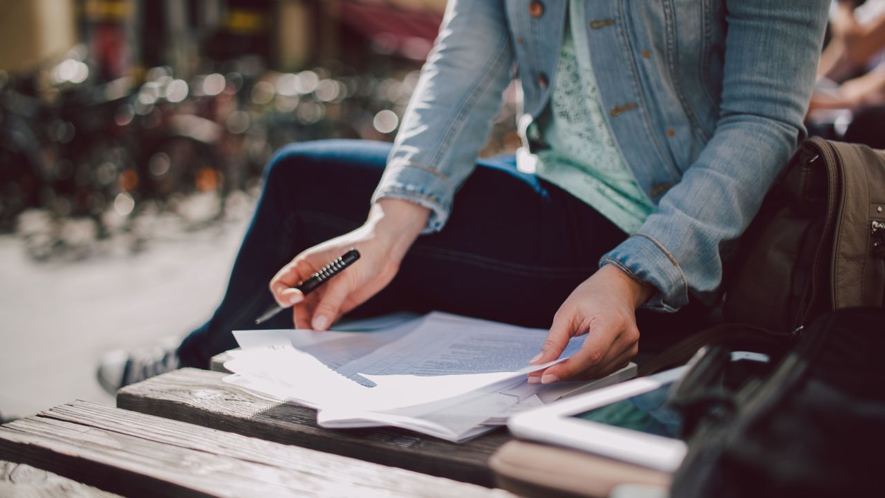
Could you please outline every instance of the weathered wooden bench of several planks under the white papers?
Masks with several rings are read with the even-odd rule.
[[[226,360],[129,385],[117,408],[73,401],[0,427],[0,495],[512,496],[488,489],[505,429],[463,444],[323,429],[313,409],[223,382]]]

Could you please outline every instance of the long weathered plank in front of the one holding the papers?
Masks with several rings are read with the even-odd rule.
[[[512,496],[88,401],[4,425],[0,458],[127,496]]]

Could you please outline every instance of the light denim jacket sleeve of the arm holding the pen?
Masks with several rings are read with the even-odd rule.
[[[404,198],[428,207],[424,233],[443,228],[512,80],[506,23],[502,1],[450,0],[421,69],[373,202]]]

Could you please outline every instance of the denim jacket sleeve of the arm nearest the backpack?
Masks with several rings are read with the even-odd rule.
[[[722,249],[747,228],[804,138],[828,4],[727,0],[715,131],[658,211],[600,261],[658,288],[645,307],[674,311],[689,291],[719,287]]]

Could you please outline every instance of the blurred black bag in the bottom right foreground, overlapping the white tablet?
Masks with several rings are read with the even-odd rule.
[[[822,315],[787,346],[734,391],[704,387],[714,360],[674,388],[691,433],[672,496],[881,495],[885,309]]]

